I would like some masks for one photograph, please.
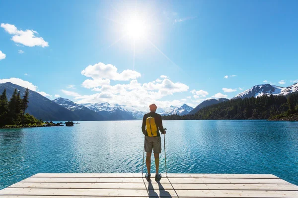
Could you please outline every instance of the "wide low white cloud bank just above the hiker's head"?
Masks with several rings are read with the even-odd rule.
[[[92,91],[100,93],[93,95],[77,96],[78,103],[109,102],[148,109],[150,103],[156,103],[160,107],[170,105],[182,105],[183,100],[160,101],[159,99],[177,92],[187,91],[189,88],[182,83],[173,83],[169,79],[163,79],[161,83],[138,83],[131,80],[129,84],[103,85],[101,88],[93,88]]]

